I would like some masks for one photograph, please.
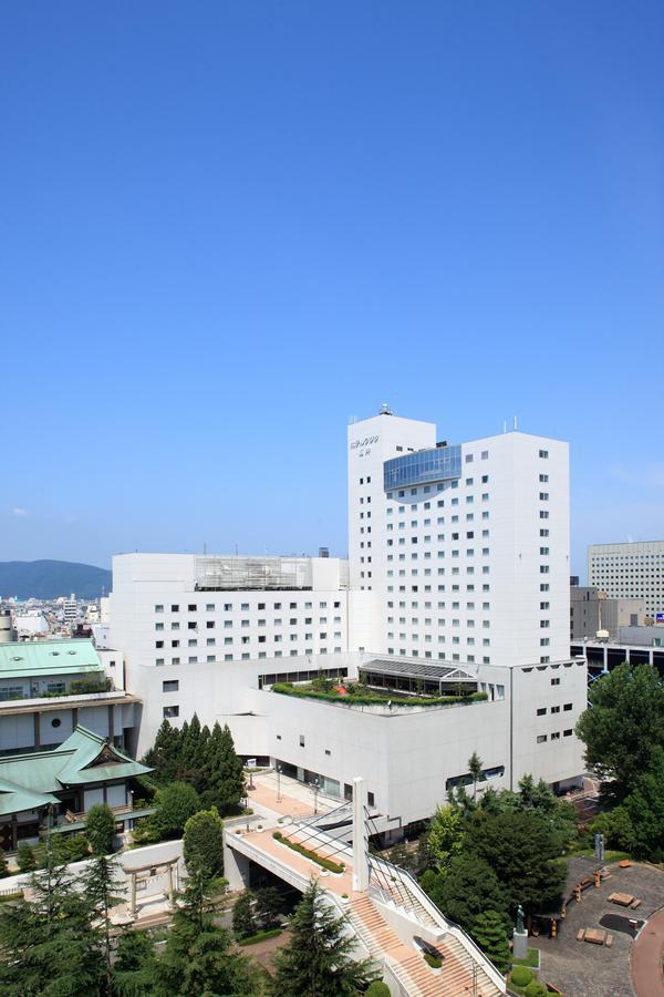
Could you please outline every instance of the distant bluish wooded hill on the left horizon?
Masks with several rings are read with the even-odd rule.
[[[95,599],[111,590],[111,572],[71,561],[0,562],[0,598],[55,599],[72,592]]]

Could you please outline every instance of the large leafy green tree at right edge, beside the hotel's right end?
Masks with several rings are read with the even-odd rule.
[[[588,700],[577,734],[604,794],[620,803],[664,747],[664,682],[650,665],[619,665],[593,682]]]

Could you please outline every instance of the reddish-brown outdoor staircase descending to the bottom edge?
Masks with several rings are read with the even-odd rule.
[[[470,952],[452,935],[437,943],[444,956],[443,970],[435,973],[417,948],[405,945],[390,927],[369,896],[351,902],[350,921],[372,957],[387,963],[408,997],[471,997],[473,967],[477,965],[477,997],[500,997],[500,990]]]

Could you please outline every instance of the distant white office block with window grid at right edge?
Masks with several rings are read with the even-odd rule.
[[[612,599],[642,599],[646,618],[664,624],[664,541],[593,544],[588,584]]]

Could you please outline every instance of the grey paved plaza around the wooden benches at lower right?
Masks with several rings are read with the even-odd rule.
[[[562,990],[566,997],[661,997],[664,989],[657,990],[649,984],[647,989],[636,990],[632,983],[631,957],[633,946],[640,942],[634,943],[623,932],[612,932],[612,948],[577,942],[579,928],[601,928],[600,918],[606,914],[647,922],[664,906],[664,872],[661,870],[634,864],[629,868],[611,865],[610,871],[611,876],[599,888],[591,886],[582,894],[580,904],[569,904],[558,938],[529,938],[529,944],[542,953],[541,978]],[[619,907],[609,902],[609,895],[614,892],[631,893],[643,903],[637,911]],[[649,932],[647,923],[642,934],[645,932]]]

